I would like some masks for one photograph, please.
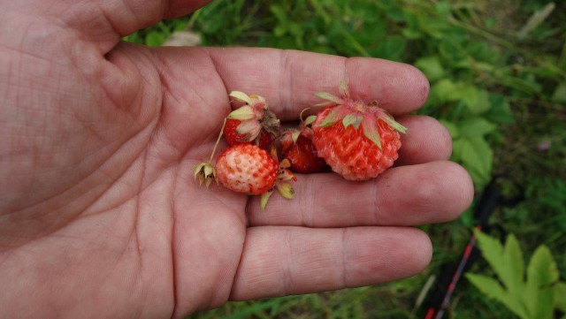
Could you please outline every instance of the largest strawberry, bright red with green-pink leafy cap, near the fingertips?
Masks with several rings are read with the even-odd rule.
[[[317,94],[327,100],[317,105],[332,106],[320,111],[312,125],[318,156],[343,178],[375,178],[397,159],[399,132],[407,133],[407,128],[395,122],[377,102],[352,99],[346,84],[340,84],[340,94]]]

